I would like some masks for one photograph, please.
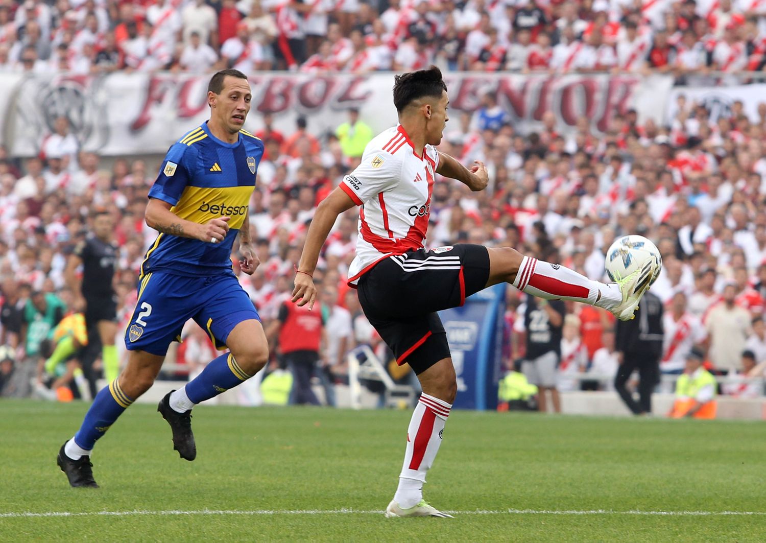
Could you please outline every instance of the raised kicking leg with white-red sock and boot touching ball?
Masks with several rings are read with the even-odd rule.
[[[487,286],[512,283],[519,290],[545,299],[567,299],[607,309],[620,320],[635,316],[659,263],[647,260],[642,268],[617,283],[588,279],[559,264],[526,257],[510,247],[488,248]]]

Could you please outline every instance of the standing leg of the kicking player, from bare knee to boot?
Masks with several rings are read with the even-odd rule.
[[[450,416],[452,402],[457,393],[457,380],[451,358],[444,358],[417,375],[423,394],[412,414],[407,429],[407,447],[404,465],[399,475],[399,486],[385,515],[391,517],[449,517],[423,499],[426,473],[439,452],[444,425]]]

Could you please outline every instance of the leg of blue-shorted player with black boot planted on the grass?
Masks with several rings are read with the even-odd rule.
[[[164,358],[148,352],[132,351],[123,375],[96,394],[80,430],[64,443],[56,459],[61,471],[67,474],[71,486],[98,488],[93,479],[93,464],[90,463],[93,446],[119,415],[137,397],[149,390]]]

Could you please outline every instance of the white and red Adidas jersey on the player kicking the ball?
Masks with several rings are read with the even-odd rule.
[[[379,260],[424,247],[439,153],[430,145],[422,152],[401,125],[391,127],[367,144],[362,163],[340,183],[362,206],[349,285]]]

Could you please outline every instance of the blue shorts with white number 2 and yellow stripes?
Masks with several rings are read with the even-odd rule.
[[[260,316],[233,275],[190,277],[147,273],[139,280],[139,299],[125,330],[129,351],[165,356],[173,340],[181,340],[188,319],[208,332],[218,349],[234,326]]]

